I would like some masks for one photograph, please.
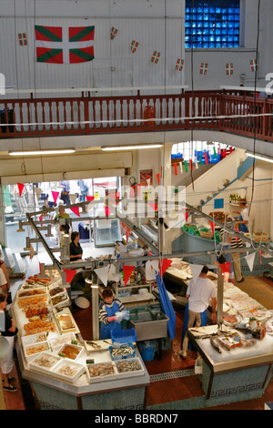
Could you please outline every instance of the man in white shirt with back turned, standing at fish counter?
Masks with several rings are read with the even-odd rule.
[[[188,299],[188,321],[187,329],[201,326],[201,313],[207,311],[211,299],[212,316],[211,321],[216,323],[217,290],[212,280],[207,278],[208,268],[204,266],[197,280],[190,280],[187,287],[186,297]],[[187,357],[188,337],[185,335],[181,356]]]

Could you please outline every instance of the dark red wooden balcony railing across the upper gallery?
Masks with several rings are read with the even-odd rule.
[[[215,129],[273,141],[273,99],[196,91],[0,100],[0,138]]]

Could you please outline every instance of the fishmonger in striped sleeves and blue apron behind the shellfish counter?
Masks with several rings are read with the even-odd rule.
[[[113,291],[107,287],[102,291],[103,301],[99,305],[100,339],[111,339],[111,331],[122,330],[116,321],[116,312],[124,311],[125,307],[114,297]]]

